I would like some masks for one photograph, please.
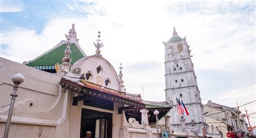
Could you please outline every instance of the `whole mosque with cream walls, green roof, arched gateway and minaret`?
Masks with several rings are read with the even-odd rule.
[[[79,46],[74,24],[65,37],[49,51],[23,64],[0,58],[0,105],[6,105],[0,108],[0,136],[8,118],[6,103],[10,102],[13,86],[10,77],[16,73],[23,74],[25,81],[18,88],[10,137],[151,138],[159,133],[164,138],[179,138],[223,137],[226,133],[224,128],[207,124],[208,120],[225,127],[219,120],[205,117],[212,107],[201,103],[190,46],[175,28],[172,37],[163,42],[163,102],[144,101],[140,94],[126,90],[122,64],[116,72],[100,51],[100,31],[93,43],[96,53],[91,56]],[[246,123],[244,126],[247,134]],[[238,129],[235,130],[239,132]]]

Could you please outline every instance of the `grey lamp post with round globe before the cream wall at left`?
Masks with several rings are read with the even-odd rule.
[[[9,134],[9,129],[10,129],[10,125],[11,125],[12,111],[14,111],[15,99],[18,96],[16,94],[17,89],[18,89],[18,85],[21,84],[22,82],[24,82],[25,78],[21,73],[18,73],[18,74],[13,75],[11,80],[12,80],[12,82],[14,82],[14,91],[11,94],[11,105],[10,105],[8,118],[7,118],[7,121],[6,121],[5,130],[4,130],[4,138],[7,138],[8,134]]]

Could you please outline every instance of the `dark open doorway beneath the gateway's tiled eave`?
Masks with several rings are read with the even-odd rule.
[[[96,135],[100,138],[112,138],[112,113],[82,108],[80,138],[84,138],[87,131],[92,133],[91,138]]]

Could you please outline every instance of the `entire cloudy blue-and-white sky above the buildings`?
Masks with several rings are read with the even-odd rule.
[[[256,99],[254,1],[2,0],[0,14],[0,57],[29,61],[65,40],[74,23],[89,56],[102,32],[101,54],[116,71],[122,63],[127,92],[143,95],[146,87],[151,101],[165,101],[163,42],[175,26],[192,50],[203,104],[235,107]],[[254,113],[255,105],[240,109]]]

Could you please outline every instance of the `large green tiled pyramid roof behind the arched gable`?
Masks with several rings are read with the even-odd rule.
[[[30,63],[27,63],[27,66],[54,66],[55,64],[62,63],[62,58],[64,56],[64,51],[66,49],[67,44],[62,44],[52,51],[44,54],[43,56],[37,58],[36,60],[31,61]],[[70,58],[72,59],[71,65],[73,65],[78,59],[81,59],[84,57],[83,53],[78,49],[76,44],[72,43],[70,44]],[[51,68],[51,69],[54,69]]]

